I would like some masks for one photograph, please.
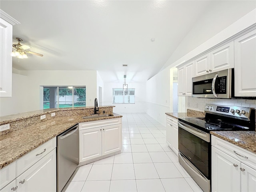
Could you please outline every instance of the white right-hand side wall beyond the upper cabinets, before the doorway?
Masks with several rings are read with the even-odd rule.
[[[170,68],[166,68],[146,82],[146,113],[165,125],[170,109]]]

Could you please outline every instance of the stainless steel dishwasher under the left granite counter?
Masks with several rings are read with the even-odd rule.
[[[57,136],[57,192],[61,192],[79,163],[78,125]]]

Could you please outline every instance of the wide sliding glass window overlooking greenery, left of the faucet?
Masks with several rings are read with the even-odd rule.
[[[86,87],[52,86],[44,89],[44,109],[86,106]]]

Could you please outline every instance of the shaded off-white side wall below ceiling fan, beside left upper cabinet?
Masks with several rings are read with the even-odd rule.
[[[12,97],[0,98],[0,116],[29,111],[28,77],[12,74]]]

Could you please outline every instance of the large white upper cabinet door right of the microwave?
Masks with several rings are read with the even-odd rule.
[[[256,96],[256,30],[234,40],[235,96]]]

